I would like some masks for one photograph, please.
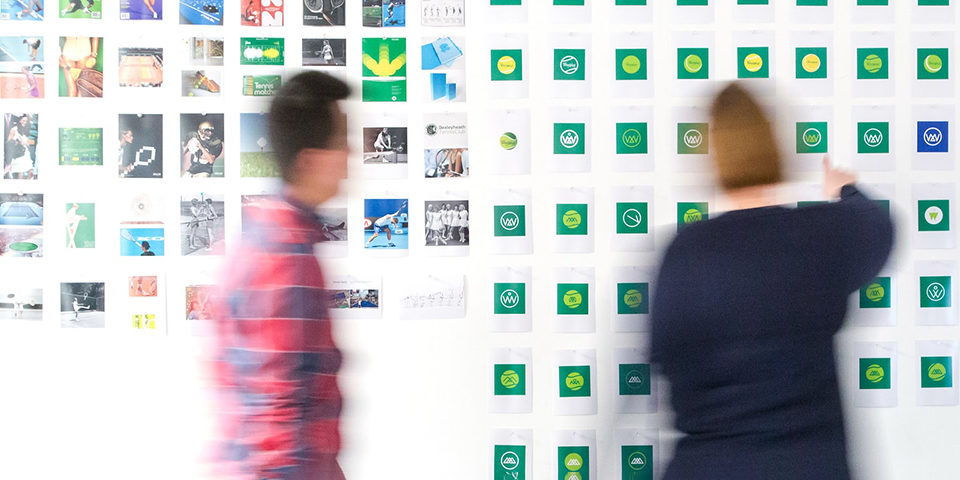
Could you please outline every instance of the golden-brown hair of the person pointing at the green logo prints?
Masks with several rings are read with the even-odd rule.
[[[713,99],[710,125],[717,181],[724,189],[783,180],[773,127],[741,85],[731,83]]]

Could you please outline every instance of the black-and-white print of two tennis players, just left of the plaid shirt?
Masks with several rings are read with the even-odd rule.
[[[180,250],[187,255],[223,255],[223,195],[180,197]]]

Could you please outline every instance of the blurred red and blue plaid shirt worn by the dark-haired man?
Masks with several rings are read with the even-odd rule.
[[[314,256],[321,224],[271,197],[245,208],[243,227],[216,309],[225,460],[238,478],[342,478],[341,355]]]

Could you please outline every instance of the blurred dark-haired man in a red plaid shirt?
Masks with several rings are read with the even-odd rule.
[[[337,101],[349,93],[340,80],[304,72],[273,99],[269,135],[283,191],[248,209],[214,313],[229,478],[343,479],[341,356],[314,245],[324,238],[317,206],[347,173]]]

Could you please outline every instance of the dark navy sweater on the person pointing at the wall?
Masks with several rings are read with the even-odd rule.
[[[731,211],[667,249],[651,358],[685,435],[665,479],[849,478],[833,337],[893,224],[853,186],[840,196]]]

